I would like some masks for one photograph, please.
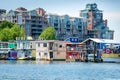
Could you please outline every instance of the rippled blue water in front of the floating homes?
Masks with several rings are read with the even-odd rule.
[[[120,64],[1,60],[0,80],[120,80]]]

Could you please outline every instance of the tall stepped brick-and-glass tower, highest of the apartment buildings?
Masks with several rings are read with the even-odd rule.
[[[97,8],[97,4],[87,4],[80,16],[86,20],[86,38],[113,39],[114,31],[107,26],[107,20],[103,19],[103,11]]]

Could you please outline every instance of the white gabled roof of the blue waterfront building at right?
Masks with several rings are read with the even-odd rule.
[[[85,41],[81,42],[82,44],[84,44],[86,41],[88,40],[92,40],[96,43],[114,43],[114,44],[120,44],[119,41],[117,40],[112,40],[112,39],[98,39],[98,38],[88,38]]]

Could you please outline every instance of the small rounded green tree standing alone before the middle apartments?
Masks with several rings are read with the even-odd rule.
[[[56,30],[54,27],[47,27],[39,36],[39,39],[56,40]]]

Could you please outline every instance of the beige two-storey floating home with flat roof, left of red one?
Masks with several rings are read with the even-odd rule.
[[[36,60],[65,60],[66,46],[64,41],[36,41]]]

